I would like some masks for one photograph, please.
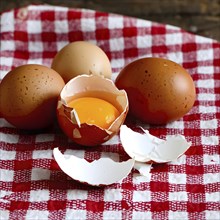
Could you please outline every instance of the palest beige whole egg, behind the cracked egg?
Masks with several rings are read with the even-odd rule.
[[[82,74],[99,75],[110,79],[112,73],[105,52],[86,41],[67,44],[56,54],[51,67],[63,77],[65,82]]]

